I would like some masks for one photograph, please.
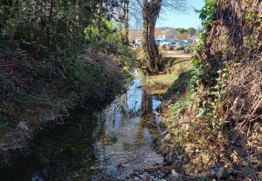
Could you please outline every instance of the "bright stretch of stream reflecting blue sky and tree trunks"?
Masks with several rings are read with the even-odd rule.
[[[140,121],[141,116],[153,115],[152,99],[145,95],[141,79],[134,79],[124,95],[118,97],[108,109],[98,113],[100,121],[105,121],[103,127],[98,127],[103,134],[96,138],[94,144],[99,165],[103,168],[100,173],[104,175],[110,171],[115,177],[121,178],[135,168],[145,168],[163,161],[153,149],[152,136],[156,135],[152,135]]]

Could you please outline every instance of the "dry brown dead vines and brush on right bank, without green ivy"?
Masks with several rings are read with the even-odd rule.
[[[214,102],[205,93],[210,84],[198,86],[187,109],[166,117],[169,128],[163,133],[161,149],[170,163],[183,162],[180,171],[192,179],[218,178],[216,171],[223,168],[224,179],[260,180],[262,13],[258,8],[262,2],[217,0],[217,6],[217,19],[198,58],[214,72],[227,69],[221,77],[227,88]],[[207,113],[198,116],[203,102]]]

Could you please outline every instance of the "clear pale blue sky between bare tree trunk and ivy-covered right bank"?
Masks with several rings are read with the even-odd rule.
[[[194,12],[192,7],[200,10],[204,5],[204,0],[188,0],[189,9],[188,13],[179,14],[172,12],[170,10],[166,10],[166,12],[162,13],[160,18],[157,20],[157,27],[169,26],[172,28],[190,28],[194,27],[195,29],[198,26],[201,26],[201,20],[199,19],[199,15]]]

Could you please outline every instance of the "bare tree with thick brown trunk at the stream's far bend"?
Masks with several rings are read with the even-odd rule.
[[[145,49],[149,57],[148,67],[154,74],[157,72],[156,62],[159,58],[159,50],[154,39],[154,30],[159,14],[164,9],[184,12],[187,10],[187,0],[133,0],[133,6],[140,6],[143,12]]]

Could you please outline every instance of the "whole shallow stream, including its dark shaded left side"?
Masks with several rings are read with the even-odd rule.
[[[161,130],[157,107],[136,77],[102,111],[79,109],[72,120],[35,137],[32,152],[0,171],[0,180],[123,180],[135,169],[163,163],[154,150]]]

